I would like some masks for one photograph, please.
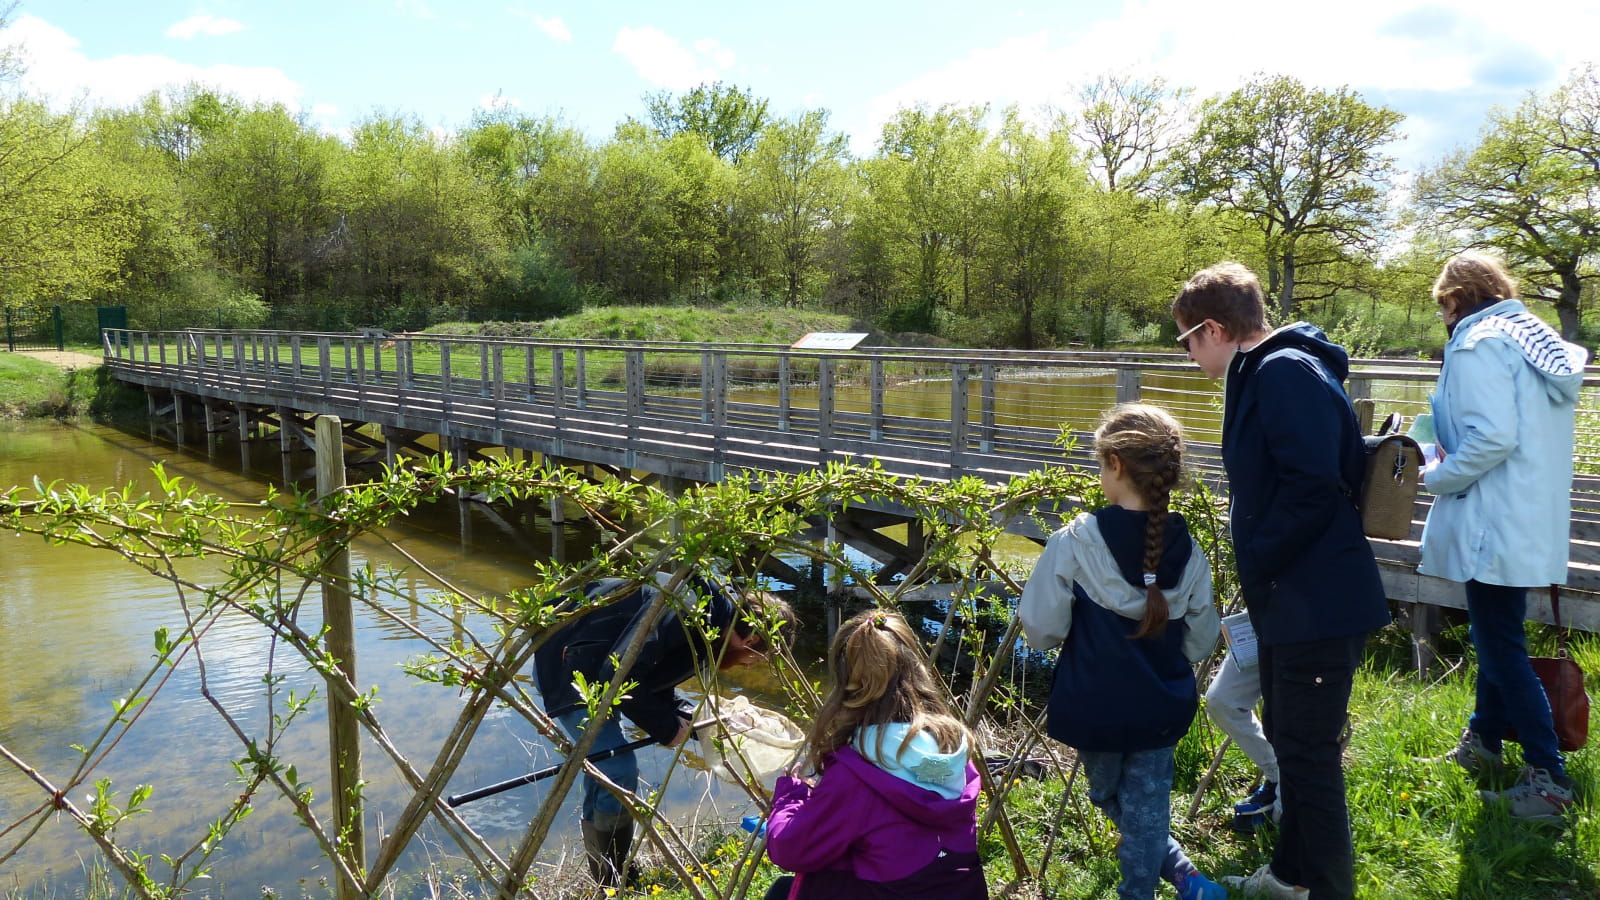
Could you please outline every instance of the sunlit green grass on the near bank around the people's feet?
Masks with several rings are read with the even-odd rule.
[[[1534,629],[1534,652],[1552,652],[1546,629]],[[1461,661],[1466,626],[1443,634],[1450,658]],[[1470,653],[1467,653],[1470,657]],[[1576,639],[1574,657],[1590,676],[1590,692],[1600,689],[1600,639]],[[1600,762],[1587,748],[1566,756],[1579,785],[1579,810],[1565,826],[1530,825],[1501,809],[1485,806],[1478,783],[1454,765],[1427,762],[1450,749],[1472,709],[1470,658],[1434,679],[1419,679],[1410,666],[1406,633],[1392,628],[1374,637],[1350,700],[1355,722],[1346,756],[1350,825],[1355,836],[1355,874],[1360,897],[1384,900],[1550,900],[1600,895]],[[1595,732],[1600,735],[1600,730]],[[1256,778],[1248,759],[1229,749],[1218,780],[1187,817],[1200,775],[1210,765],[1221,735],[1197,717],[1178,748],[1173,793],[1174,834],[1202,871],[1219,878],[1248,874],[1269,862],[1272,838],[1238,836],[1229,828],[1232,802],[1246,794]],[[1518,749],[1507,741],[1507,762]],[[1059,749],[1059,748],[1058,748]],[[1018,842],[1030,866],[1056,825],[1062,780],[1024,780],[1010,790],[1005,804]],[[1050,868],[1040,894],[1110,900],[1117,895],[1117,834],[1090,807],[1080,775],[1059,822]],[[715,846],[715,844],[714,844]],[[728,850],[725,849],[723,854]],[[981,844],[992,895],[1013,881],[1005,844],[997,831]],[[776,870],[755,878],[765,886]],[[659,887],[658,887],[659,886]],[[650,873],[646,892],[662,900],[683,900],[666,873]],[[754,890],[752,897],[760,897]],[[1168,897],[1162,889],[1157,897]]]

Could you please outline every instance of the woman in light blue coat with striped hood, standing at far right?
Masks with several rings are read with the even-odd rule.
[[[1526,769],[1485,799],[1549,820],[1571,807],[1573,783],[1523,620],[1528,588],[1566,581],[1573,412],[1589,354],[1515,298],[1517,282],[1482,253],[1451,258],[1434,283],[1450,340],[1432,399],[1442,460],[1422,471],[1435,496],[1419,572],[1466,585],[1478,657],[1477,706],[1446,759],[1472,773],[1498,767],[1515,727]]]

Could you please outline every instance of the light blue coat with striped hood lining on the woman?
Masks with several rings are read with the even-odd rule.
[[[1435,498],[1419,572],[1566,583],[1573,410],[1587,357],[1517,299],[1456,323],[1432,397],[1445,458],[1422,471]]]

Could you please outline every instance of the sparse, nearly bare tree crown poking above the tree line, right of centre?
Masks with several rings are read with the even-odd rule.
[[[1178,143],[1176,107],[1189,93],[1168,90],[1158,77],[1141,82],[1123,75],[1101,75],[1078,91],[1083,112],[1074,136],[1107,191],[1142,194],[1155,187],[1155,173]]]

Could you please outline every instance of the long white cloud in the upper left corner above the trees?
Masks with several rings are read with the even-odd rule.
[[[154,54],[90,59],[77,38],[29,14],[0,34],[0,43],[21,45],[27,61],[24,90],[56,104],[82,98],[91,106],[130,106],[150,91],[189,82],[293,109],[302,93],[280,69],[266,66],[194,66]]]

